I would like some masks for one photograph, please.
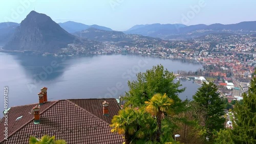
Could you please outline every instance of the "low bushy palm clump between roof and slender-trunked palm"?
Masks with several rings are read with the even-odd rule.
[[[145,112],[145,108],[126,107],[113,116],[112,132],[124,134],[125,143],[148,143],[154,141],[157,131],[156,120]],[[143,142],[142,142],[143,141]]]

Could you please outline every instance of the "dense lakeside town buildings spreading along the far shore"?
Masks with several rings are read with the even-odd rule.
[[[138,39],[138,44],[118,46],[118,42],[105,41],[103,46],[94,45],[90,50],[70,44],[63,53],[70,56],[136,54],[195,60],[203,63],[201,76],[221,78],[216,84],[230,90],[238,87],[241,92],[248,90],[256,66],[256,37],[251,34],[209,34],[186,41],[134,39]],[[232,92],[225,94],[232,96]]]

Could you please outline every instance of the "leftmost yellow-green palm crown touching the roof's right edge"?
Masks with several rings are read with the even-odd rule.
[[[118,115],[113,116],[110,126],[113,127],[111,132],[124,134],[125,144],[131,143],[137,128],[135,111],[132,108],[121,109]]]

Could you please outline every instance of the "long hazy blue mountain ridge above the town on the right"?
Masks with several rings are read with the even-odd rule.
[[[144,36],[159,37],[168,39],[173,35],[183,35],[186,33],[193,33],[195,31],[201,31],[200,33],[218,33],[218,32],[256,32],[256,21],[244,21],[236,24],[222,25],[220,23],[212,25],[193,25],[185,26],[182,24],[160,24],[155,23],[152,25],[136,25],[131,29],[124,31],[126,34],[140,34]]]

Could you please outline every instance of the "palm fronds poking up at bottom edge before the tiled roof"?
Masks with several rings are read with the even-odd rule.
[[[63,139],[55,140],[55,136],[50,137],[49,135],[42,136],[38,139],[34,136],[29,138],[29,144],[66,144],[67,142]]]

